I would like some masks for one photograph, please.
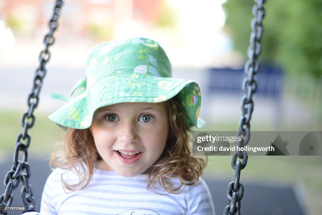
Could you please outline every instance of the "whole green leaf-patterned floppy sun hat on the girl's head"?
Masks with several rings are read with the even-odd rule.
[[[97,44],[87,59],[86,80],[72,90],[84,88],[49,118],[60,126],[85,129],[92,124],[95,111],[124,102],[163,102],[176,97],[184,108],[185,121],[201,127],[199,85],[172,78],[171,63],[163,48],[147,38],[113,40]]]

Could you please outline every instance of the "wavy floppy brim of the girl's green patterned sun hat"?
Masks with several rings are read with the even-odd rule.
[[[119,73],[100,79],[49,118],[63,127],[85,129],[90,127],[93,115],[100,107],[127,102],[158,103],[175,96],[185,110],[188,125],[199,127],[201,91],[196,82],[144,73]]]

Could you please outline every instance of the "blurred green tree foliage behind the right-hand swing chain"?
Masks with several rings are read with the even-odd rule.
[[[227,0],[226,27],[234,48],[247,57],[251,0]],[[322,77],[322,1],[268,0],[264,3],[261,60],[284,66],[290,74]]]

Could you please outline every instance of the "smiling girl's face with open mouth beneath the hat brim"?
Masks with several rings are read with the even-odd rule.
[[[99,108],[89,129],[103,158],[98,168],[134,177],[154,164],[165,148],[165,103],[120,103]]]

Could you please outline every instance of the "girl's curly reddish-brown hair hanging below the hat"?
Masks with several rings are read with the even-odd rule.
[[[183,108],[175,98],[166,102],[166,112],[169,122],[168,139],[165,149],[159,159],[147,170],[149,182],[147,188],[154,192],[154,183],[161,185],[167,192],[181,192],[183,185],[193,185],[201,176],[207,159],[192,156],[189,148],[191,142],[190,125],[185,122]],[[53,153],[53,166],[65,168],[77,173],[79,183],[69,184],[62,179],[65,188],[70,191],[81,190],[86,187],[94,173],[96,163],[101,161],[94,138],[89,129],[68,128],[64,140],[64,153]],[[178,177],[180,185],[173,187],[170,179]]]

